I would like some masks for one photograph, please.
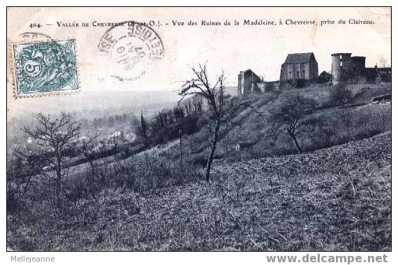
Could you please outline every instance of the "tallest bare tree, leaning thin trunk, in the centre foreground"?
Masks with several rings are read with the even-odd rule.
[[[206,64],[199,64],[198,68],[193,67],[193,78],[184,81],[179,90],[179,95],[184,99],[185,96],[194,95],[199,96],[201,99],[205,99],[207,102],[210,115],[210,126],[212,129],[212,140],[209,157],[207,158],[206,165],[206,180],[210,179],[210,169],[214,159],[214,152],[216,151],[217,143],[219,142],[219,131],[221,122],[224,121],[224,115],[242,106],[245,102],[238,103],[237,106],[230,107],[228,111],[225,108],[225,95],[224,95],[224,72],[222,71],[219,76],[216,77],[216,82],[211,85],[209,82],[209,76],[207,73]],[[180,101],[182,101],[180,99]]]

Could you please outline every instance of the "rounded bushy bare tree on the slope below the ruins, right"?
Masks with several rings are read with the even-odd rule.
[[[314,113],[316,102],[300,94],[284,96],[280,106],[270,110],[269,122],[275,136],[287,134],[295,144],[297,151],[302,148],[297,141],[297,136],[310,133],[316,129],[317,120],[309,117]]]

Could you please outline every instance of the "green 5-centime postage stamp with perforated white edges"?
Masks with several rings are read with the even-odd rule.
[[[74,39],[14,44],[12,52],[15,96],[78,90]]]

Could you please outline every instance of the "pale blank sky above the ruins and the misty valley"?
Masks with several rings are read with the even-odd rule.
[[[53,40],[75,39],[80,90],[109,93],[112,99],[113,90],[177,90],[192,77],[191,67],[198,63],[207,63],[209,76],[224,71],[227,85],[231,86],[237,85],[239,71],[246,69],[265,80],[278,80],[281,64],[288,53],[295,52],[314,52],[319,73],[330,71],[330,55],[335,52],[365,56],[367,67],[376,63],[390,65],[390,12],[390,8],[9,8],[7,36],[9,47],[26,41],[20,34],[27,31],[45,34]],[[372,20],[374,24],[319,25],[321,20],[337,23],[341,19]],[[98,51],[98,43],[109,27],[93,27],[93,22],[132,20],[161,23],[152,28],[163,42],[164,57],[142,66],[145,73],[140,78],[120,81],[114,77],[119,73],[115,57],[103,56]],[[232,25],[201,26],[202,20],[221,24],[228,20]],[[235,20],[240,22],[239,26],[233,25]],[[244,20],[274,21],[276,25],[245,26]],[[287,25],[286,20],[316,20],[318,25]],[[174,26],[173,21],[185,24]],[[199,25],[189,26],[189,21]],[[44,26],[32,29],[29,26],[33,22]],[[58,27],[58,22],[78,22],[80,27]],[[82,27],[84,22],[90,27]],[[13,62],[10,51],[8,62]],[[11,66],[8,65],[9,112],[29,109],[33,101],[45,104],[45,97],[13,99]],[[128,71],[120,73],[127,77],[129,74],[135,76]],[[64,96],[79,100],[79,94]],[[92,103],[95,102],[87,102]]]

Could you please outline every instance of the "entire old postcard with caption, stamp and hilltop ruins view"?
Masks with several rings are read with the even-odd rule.
[[[7,251],[390,252],[391,11],[8,7]]]

